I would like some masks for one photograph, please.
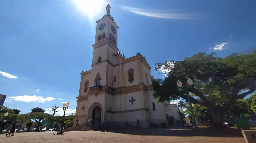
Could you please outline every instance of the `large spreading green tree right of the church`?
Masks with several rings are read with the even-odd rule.
[[[225,58],[198,53],[183,61],[156,63],[155,70],[164,69],[164,79],[153,79],[153,95],[159,102],[187,96],[187,78],[193,80],[188,87],[190,100],[207,107],[214,127],[223,127],[223,114],[236,102],[255,91],[256,51],[234,53]],[[183,85],[178,88],[176,82]]]

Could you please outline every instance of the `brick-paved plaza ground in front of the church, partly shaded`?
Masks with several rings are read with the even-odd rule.
[[[119,132],[119,133],[118,133]],[[26,132],[16,133],[13,137],[0,135],[1,143],[22,142],[22,143],[245,143],[241,133],[225,134],[222,132],[210,132],[205,130],[195,132],[187,129],[139,129],[139,130],[118,130],[115,132],[99,131],[76,131],[64,132],[63,135],[53,135],[56,132]]]

